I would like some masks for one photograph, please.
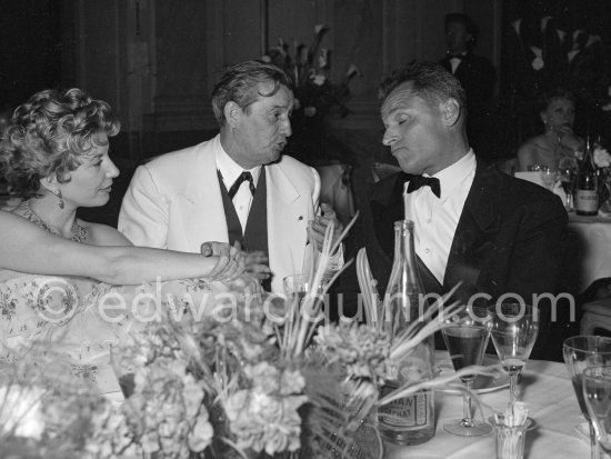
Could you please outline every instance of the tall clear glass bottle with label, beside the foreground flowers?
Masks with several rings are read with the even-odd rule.
[[[394,339],[410,322],[420,320],[425,307],[420,273],[415,263],[413,222],[394,222],[394,261],[384,295],[383,327]],[[434,338],[429,337],[409,358],[393,362],[393,375],[381,388],[381,397],[394,389],[421,382],[433,377]],[[395,400],[378,409],[380,435],[395,445],[419,445],[434,435],[433,391],[420,391],[414,396]]]

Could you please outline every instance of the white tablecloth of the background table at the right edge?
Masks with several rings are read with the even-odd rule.
[[[569,213],[562,291],[580,293],[594,280],[611,278],[611,218]]]

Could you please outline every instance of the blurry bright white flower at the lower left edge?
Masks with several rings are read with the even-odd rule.
[[[44,430],[43,395],[44,391],[37,387],[0,387],[0,431],[40,440]]]

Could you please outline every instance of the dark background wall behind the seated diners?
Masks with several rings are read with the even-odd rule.
[[[341,81],[351,63],[362,71],[350,86],[348,117],[328,121],[351,156],[357,206],[372,163],[393,161],[381,144],[378,86],[407,62],[443,57],[445,13],[465,12],[478,22],[475,51],[500,74],[491,159],[511,157],[539,129],[528,91],[551,68],[531,74],[524,58],[518,69],[514,20],[523,20],[527,44],[543,43],[537,30],[545,16],[567,33],[600,34],[602,50],[611,42],[609,0],[2,0],[1,7],[0,106],[77,86],[107,100],[121,119],[111,149],[123,173],[111,207],[138,163],[216,133],[210,92],[228,66],[259,58],[262,43],[273,47],[279,38],[291,49],[309,44],[315,24],[329,28],[321,46],[331,50],[331,80]],[[527,81],[520,90],[517,79]],[[604,90],[604,78],[601,83]]]

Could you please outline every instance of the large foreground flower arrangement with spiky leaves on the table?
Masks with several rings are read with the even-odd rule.
[[[340,243],[331,243],[332,232],[331,224],[311,286],[324,281],[331,253]],[[393,361],[405,361],[444,322],[432,320],[422,327],[417,321],[393,342],[377,321],[378,310],[367,311],[367,325],[322,323],[322,299],[333,280],[322,292],[312,288],[303,298],[240,291],[239,299],[220,301],[199,319],[187,311],[177,320],[176,309],[188,308],[168,302],[162,320],[113,348],[111,360],[123,402],[112,403],[83,388],[47,403],[34,390],[32,409],[54,415],[54,421],[30,426],[29,416],[17,418],[27,423],[37,447],[41,445],[37,439],[66,438],[49,436],[61,419],[63,429],[54,430],[71,432],[67,445],[81,458],[120,458],[140,451],[153,458],[381,458],[377,407],[481,369],[413,379],[380,399],[380,387],[392,378]],[[427,313],[439,313],[448,298]],[[445,307],[443,315],[459,310]],[[18,398],[30,405],[28,397]],[[38,400],[47,408],[40,409]],[[9,419],[24,412],[9,409]],[[23,437],[26,426],[18,427],[19,422],[0,426],[9,426],[11,438]]]

